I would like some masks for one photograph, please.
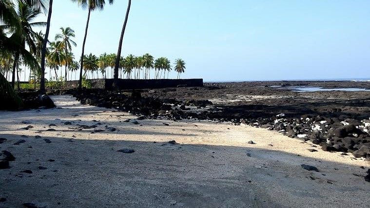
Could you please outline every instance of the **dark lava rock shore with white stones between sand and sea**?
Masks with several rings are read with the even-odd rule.
[[[311,141],[324,151],[351,152],[370,161],[370,92],[298,93],[265,87],[274,84],[310,83],[210,83],[204,88],[55,93],[74,95],[82,104],[135,113],[139,119],[229,121],[265,128],[302,142]],[[368,85],[360,84],[323,82],[322,86]]]

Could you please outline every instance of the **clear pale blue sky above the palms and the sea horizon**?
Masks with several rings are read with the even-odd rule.
[[[126,7],[92,13],[86,54],[117,53]],[[50,38],[71,27],[79,57],[86,18],[54,0]],[[205,81],[370,77],[370,1],[133,0],[122,55],[145,53],[181,57],[182,77]]]

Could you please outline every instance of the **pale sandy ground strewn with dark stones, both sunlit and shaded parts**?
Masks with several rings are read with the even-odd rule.
[[[0,150],[16,157],[10,169],[0,170],[0,198],[6,198],[0,207],[370,204],[370,183],[363,177],[370,165],[351,154],[321,151],[249,126],[167,120],[138,120],[135,125],[124,122],[136,118],[128,113],[83,106],[71,96],[52,98],[59,108],[0,112],[0,137],[7,139]],[[19,130],[28,125],[34,128]],[[78,131],[83,127],[78,125],[96,125],[104,131]],[[109,127],[116,131],[107,132]],[[55,131],[46,131],[51,128]],[[14,145],[21,139],[25,142]],[[256,144],[247,144],[250,140]],[[135,152],[117,151],[122,149]],[[305,170],[301,164],[320,172]],[[23,170],[32,173],[20,173]]]

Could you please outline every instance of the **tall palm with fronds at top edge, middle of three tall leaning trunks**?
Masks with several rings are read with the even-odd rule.
[[[84,67],[83,59],[84,59],[84,53],[85,53],[85,43],[86,43],[86,37],[87,37],[87,29],[89,28],[89,21],[90,21],[90,14],[92,11],[95,10],[103,10],[105,5],[105,0],[72,0],[73,2],[77,2],[79,6],[82,8],[88,9],[88,15],[87,15],[87,21],[86,21],[86,28],[85,28],[85,36],[83,38],[82,43],[82,54],[81,54],[81,69],[79,72],[79,82],[78,82],[78,88],[82,88],[82,70]],[[114,0],[109,0],[110,4],[113,4]]]

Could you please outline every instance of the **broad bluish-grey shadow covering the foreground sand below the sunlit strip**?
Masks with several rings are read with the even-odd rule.
[[[0,137],[7,139],[0,150],[16,157],[10,169],[0,170],[0,196],[7,198],[0,205],[5,207],[26,202],[41,207],[57,203],[63,207],[363,207],[370,203],[369,197],[358,198],[370,192],[363,178],[366,170],[314,156],[253,146],[24,138],[5,133]],[[25,142],[13,145],[19,139]],[[118,152],[121,149],[135,152]],[[305,170],[301,164],[320,172]],[[32,174],[19,173],[22,170]]]

